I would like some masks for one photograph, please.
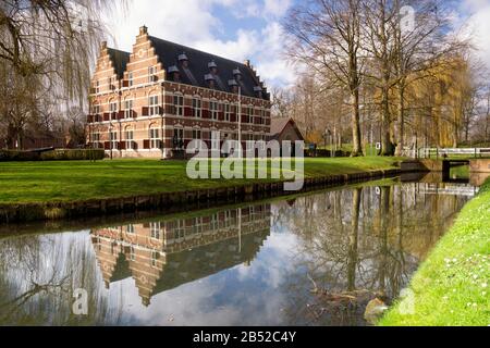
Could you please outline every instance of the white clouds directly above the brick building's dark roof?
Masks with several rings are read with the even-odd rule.
[[[278,20],[285,14],[291,0],[166,0],[155,5],[152,0],[138,0],[126,11],[120,9],[108,15],[109,28],[114,33],[115,48],[131,51],[138,28],[146,25],[150,35],[194,47],[217,55],[243,62],[252,60],[258,74],[270,87],[290,85],[294,74],[282,57],[282,29]],[[223,27],[215,11],[226,11],[240,16],[267,18],[264,27],[236,29],[233,39],[223,40]]]

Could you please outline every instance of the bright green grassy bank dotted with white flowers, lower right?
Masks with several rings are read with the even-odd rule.
[[[412,281],[415,301],[396,303],[383,326],[490,325],[490,179],[461,212]],[[405,313],[405,314],[404,314]]]

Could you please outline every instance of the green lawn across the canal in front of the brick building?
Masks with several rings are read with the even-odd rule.
[[[396,167],[399,160],[380,157],[305,159],[305,175],[315,177],[389,170]],[[243,185],[249,182],[191,179],[186,175],[184,161],[5,162],[0,163],[0,203],[119,198]]]

